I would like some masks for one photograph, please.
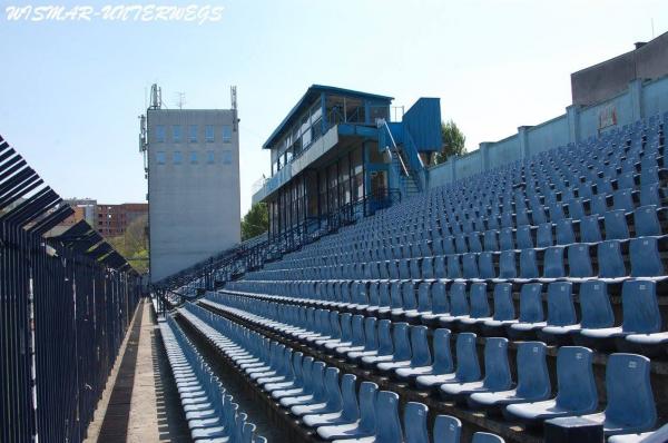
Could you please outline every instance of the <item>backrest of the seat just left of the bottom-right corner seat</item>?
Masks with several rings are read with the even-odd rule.
[[[591,350],[561,346],[557,353],[557,406],[577,414],[593,412],[598,393],[591,367]]]

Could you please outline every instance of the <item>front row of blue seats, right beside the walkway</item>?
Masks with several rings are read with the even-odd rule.
[[[246,414],[237,412],[238,404],[225,395],[218,378],[170,316],[160,323],[160,335],[193,440],[266,443],[265,437],[255,435]]]

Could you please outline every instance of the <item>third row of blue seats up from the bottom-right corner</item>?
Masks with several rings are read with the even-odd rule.
[[[630,240],[577,243],[551,246],[468,253],[448,256],[367,262],[314,268],[259,270],[248,280],[327,280],[327,279],[468,279],[491,282],[551,282],[554,279],[623,279],[665,276],[664,252],[668,237],[638,237]]]

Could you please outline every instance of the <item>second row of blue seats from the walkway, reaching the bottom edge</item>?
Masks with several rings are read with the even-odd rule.
[[[297,417],[318,436],[334,442],[429,443],[424,404],[404,407],[403,426],[399,395],[362,382],[355,393],[356,376],[341,374],[324,362],[271,342],[257,333],[216,316],[193,304],[179,309],[223,354],[261,386],[267,396]],[[382,417],[382,420],[381,420]],[[433,442],[459,443],[461,422],[451,416],[435,419]],[[502,443],[503,439],[477,433],[473,443]]]

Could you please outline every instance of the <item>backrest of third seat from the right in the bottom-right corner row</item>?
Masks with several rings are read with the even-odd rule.
[[[530,401],[544,400],[552,391],[543,342],[518,343],[517,395]]]

